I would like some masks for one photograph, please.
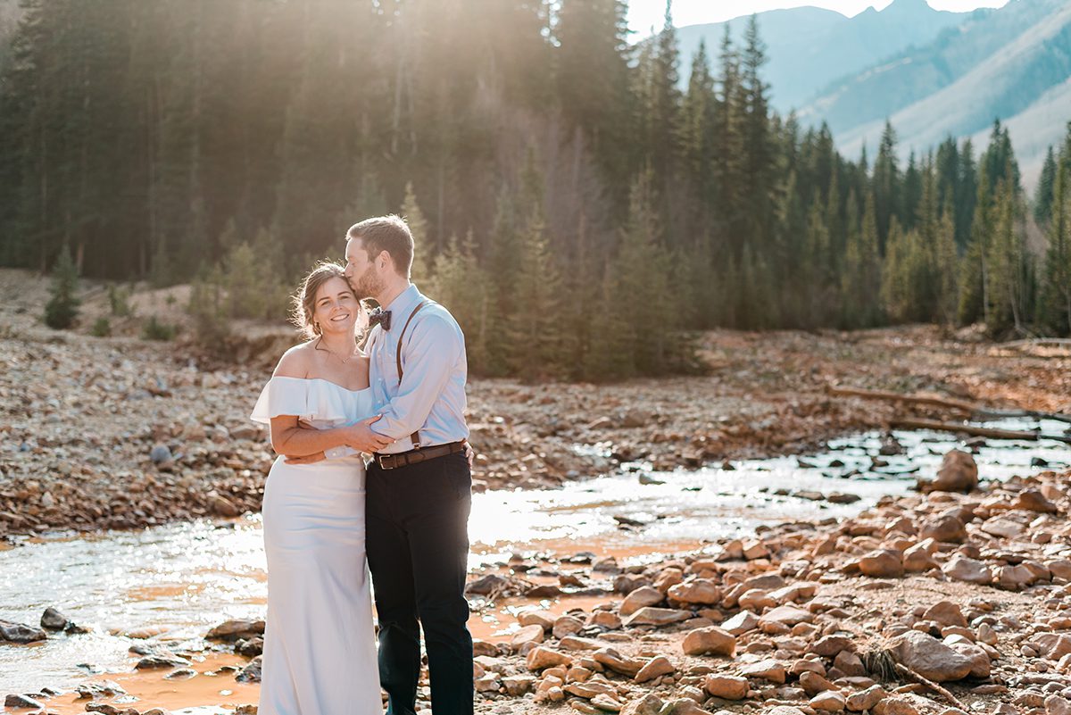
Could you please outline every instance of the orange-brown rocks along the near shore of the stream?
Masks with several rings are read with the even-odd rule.
[[[658,563],[517,556],[472,574],[473,602],[524,594],[532,604],[510,633],[477,641],[478,710],[1067,715],[1071,471],[978,486],[972,465],[949,453],[923,493]],[[571,606],[578,595],[598,603]],[[77,627],[56,612],[42,623]],[[250,658],[229,670],[255,682],[262,632],[263,622],[231,621],[207,640]],[[0,634],[44,636],[6,623]],[[188,652],[151,638],[132,651],[140,670],[197,675]],[[110,705],[115,693],[101,687],[85,686],[87,711],[161,712]],[[7,706],[44,697],[47,711],[47,696],[9,695]]]

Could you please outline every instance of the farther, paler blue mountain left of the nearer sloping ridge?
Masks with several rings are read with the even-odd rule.
[[[925,0],[894,0],[878,12],[873,7],[847,18],[817,7],[773,10],[758,14],[759,35],[768,48],[764,69],[773,106],[787,113],[839,77],[855,74],[911,46],[922,46],[968,14],[936,11]],[[746,17],[729,20],[734,40],[742,41]],[[689,60],[707,44],[718,54],[725,22],[680,28],[681,57],[687,81]]]

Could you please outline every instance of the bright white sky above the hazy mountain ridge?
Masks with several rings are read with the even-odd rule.
[[[848,17],[871,5],[884,10],[892,0],[674,0],[674,25],[699,25],[751,15],[766,10],[813,5],[835,10]],[[1000,7],[1008,0],[927,0],[935,10],[968,12],[977,7]],[[665,16],[665,0],[629,0],[629,28],[639,35],[650,34],[652,27],[661,28]]]

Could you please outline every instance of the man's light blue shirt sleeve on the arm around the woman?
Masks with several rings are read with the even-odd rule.
[[[397,395],[383,406],[381,419],[369,426],[369,431],[399,440],[423,427],[464,354],[464,339],[453,321],[435,314],[414,325],[408,347],[411,358]]]

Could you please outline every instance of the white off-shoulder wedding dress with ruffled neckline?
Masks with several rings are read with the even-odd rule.
[[[371,390],[273,377],[255,422],[296,415],[317,429],[373,414]],[[265,486],[268,554],[260,715],[381,715],[364,551],[364,461],[347,447],[312,465],[278,457]]]

